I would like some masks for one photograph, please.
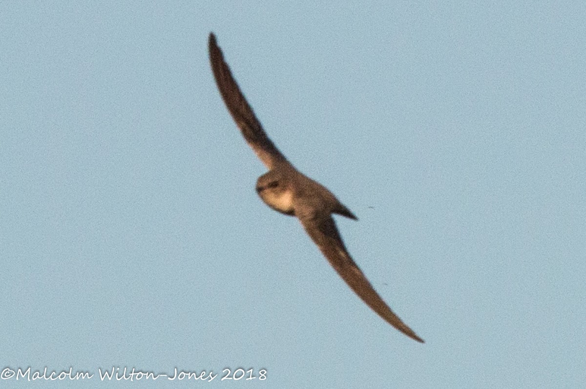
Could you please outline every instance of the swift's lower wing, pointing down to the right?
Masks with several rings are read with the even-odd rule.
[[[393,311],[389,308],[379,294],[366,279],[364,273],[348,254],[342,238],[336,228],[336,223],[332,216],[316,212],[315,208],[295,209],[295,214],[304,226],[305,231],[311,239],[318,245],[319,250],[328,259],[332,267],[338,272],[340,277],[353,291],[366,302],[366,304],[379,314],[381,318],[387,321],[394,328],[403,332],[405,335],[424,343],[411,328],[409,328]]]

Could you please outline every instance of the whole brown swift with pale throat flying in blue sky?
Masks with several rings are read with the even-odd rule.
[[[423,339],[391,311],[347,252],[332,214],[357,220],[356,216],[332,192],[289,163],[268,138],[253,109],[248,105],[230,67],[224,61],[224,55],[213,33],[210,33],[208,44],[214,78],[228,111],[246,142],[268,168],[268,172],[257,180],[256,191],[260,198],[275,211],[297,216],[305,232],[346,284],[390,325],[417,342],[424,343]]]

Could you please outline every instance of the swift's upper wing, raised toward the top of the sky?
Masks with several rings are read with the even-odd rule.
[[[277,161],[286,161],[285,156],[268,139],[263,126],[254,116],[253,109],[246,102],[246,98],[230,73],[230,67],[224,61],[222,49],[217,45],[216,36],[213,33],[210,33],[209,51],[210,64],[212,64],[212,71],[220,94],[246,142],[250,144],[258,158],[269,169],[274,167]]]

